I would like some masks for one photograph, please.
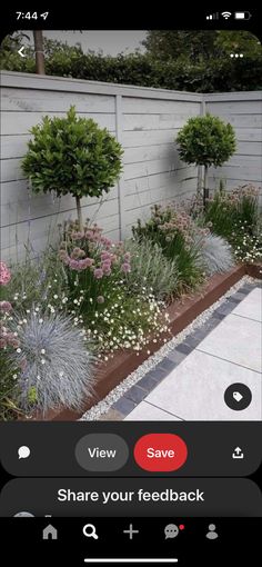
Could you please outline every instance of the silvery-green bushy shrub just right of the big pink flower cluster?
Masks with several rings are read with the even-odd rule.
[[[168,259],[158,243],[129,239],[124,241],[124,250],[131,253],[132,269],[127,275],[127,285],[134,294],[145,289],[157,299],[169,299],[177,294],[177,261]]]

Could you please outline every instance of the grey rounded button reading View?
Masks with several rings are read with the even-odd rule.
[[[129,458],[127,442],[114,434],[84,435],[77,444],[75,458],[80,467],[92,472],[112,472]]]

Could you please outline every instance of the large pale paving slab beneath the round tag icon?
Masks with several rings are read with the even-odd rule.
[[[234,382],[243,382],[252,391],[252,401],[242,411],[224,402],[224,391]],[[145,402],[185,420],[260,420],[261,376],[194,350],[147,396]]]

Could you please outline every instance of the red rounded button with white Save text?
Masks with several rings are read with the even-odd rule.
[[[183,439],[173,434],[143,435],[134,446],[134,460],[151,472],[169,472],[182,467],[188,458]]]

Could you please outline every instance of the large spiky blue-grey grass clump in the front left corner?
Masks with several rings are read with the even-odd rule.
[[[36,308],[27,318],[13,318],[19,347],[10,362],[21,369],[18,375],[19,406],[26,411],[66,406],[81,409],[92,395],[92,355],[87,348],[85,331],[73,326],[71,318],[41,315]]]

